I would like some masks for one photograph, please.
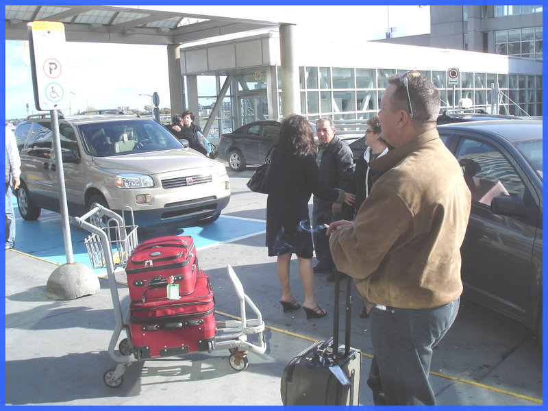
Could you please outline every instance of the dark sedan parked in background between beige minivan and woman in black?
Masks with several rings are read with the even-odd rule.
[[[219,158],[226,160],[234,171],[245,170],[248,164],[263,164],[279,136],[280,125],[274,120],[254,121],[232,133],[221,134]]]

